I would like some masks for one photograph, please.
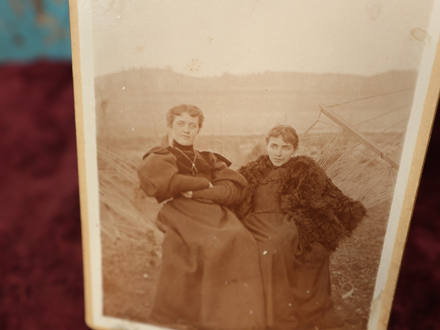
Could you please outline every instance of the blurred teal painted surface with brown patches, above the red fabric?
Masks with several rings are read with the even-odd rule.
[[[68,0],[0,0],[0,62],[70,59]]]

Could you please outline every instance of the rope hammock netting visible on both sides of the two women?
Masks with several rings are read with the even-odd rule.
[[[387,92],[327,107],[320,105],[318,119],[300,138],[304,143],[300,143],[298,153],[315,159],[342,192],[359,199],[367,208],[391,199],[411,105],[410,102],[396,105],[387,101],[387,97],[404,100],[398,93],[408,94],[407,91]],[[362,102],[371,99],[376,100],[369,112]],[[376,107],[381,102],[377,99],[384,103],[380,113]],[[347,119],[359,113],[362,106],[361,120]],[[365,118],[367,114],[369,117]],[[160,241],[163,234],[154,225],[154,216],[161,206],[140,192],[138,164],[105,148],[98,148],[97,155],[101,233],[110,239],[131,240],[145,239],[147,234],[150,239]]]

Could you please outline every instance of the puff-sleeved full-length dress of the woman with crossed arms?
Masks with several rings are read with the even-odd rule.
[[[157,216],[165,238],[153,323],[264,329],[257,243],[226,207],[242,199],[247,183],[229,165],[220,155],[174,143],[152,149],[139,166],[147,196],[160,202],[172,198]],[[192,198],[181,195],[187,191]]]

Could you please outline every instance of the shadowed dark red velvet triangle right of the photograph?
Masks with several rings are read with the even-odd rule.
[[[389,330],[440,329],[440,113],[423,168]]]

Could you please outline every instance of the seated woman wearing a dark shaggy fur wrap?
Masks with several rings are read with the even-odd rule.
[[[268,155],[238,170],[249,186],[235,212],[259,246],[270,329],[341,325],[329,256],[366,214],[312,158],[294,156],[298,142],[293,127],[276,126],[266,136]]]

